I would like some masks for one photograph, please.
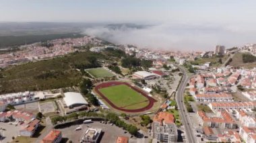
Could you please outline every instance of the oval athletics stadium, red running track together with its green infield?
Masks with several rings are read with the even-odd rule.
[[[150,109],[155,99],[147,93],[129,83],[110,81],[95,87],[100,95],[111,107],[125,112],[141,112]]]

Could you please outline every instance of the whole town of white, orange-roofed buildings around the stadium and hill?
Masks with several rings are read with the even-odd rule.
[[[256,44],[171,52],[84,36],[20,46],[0,54],[0,66],[5,70],[75,52],[106,51],[128,56],[76,68],[83,74],[80,87],[0,95],[0,141],[256,141],[256,62],[244,67],[232,64],[237,54],[255,56]],[[124,59],[150,64],[133,65],[136,61]]]

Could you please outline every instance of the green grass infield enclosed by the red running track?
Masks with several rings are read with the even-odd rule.
[[[115,85],[99,89],[112,103],[123,109],[139,109],[146,107],[149,101],[127,85]]]

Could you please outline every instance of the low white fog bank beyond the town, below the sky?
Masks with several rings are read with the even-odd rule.
[[[245,29],[246,28],[246,29]],[[141,48],[180,51],[214,50],[217,44],[227,48],[254,43],[256,30],[244,26],[214,26],[210,24],[159,24],[154,26],[97,26],[84,34],[117,44],[135,44]]]

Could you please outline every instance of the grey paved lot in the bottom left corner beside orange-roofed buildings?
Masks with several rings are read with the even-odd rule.
[[[2,138],[0,137],[1,143],[11,142],[11,138],[14,136],[18,136],[20,130],[20,126],[10,125],[8,123],[0,122],[0,134],[2,134]]]

